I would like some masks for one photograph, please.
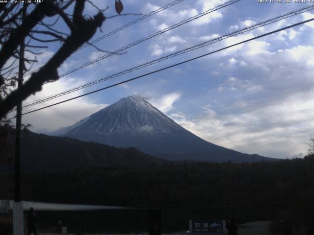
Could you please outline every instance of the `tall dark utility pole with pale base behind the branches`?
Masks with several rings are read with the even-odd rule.
[[[23,4],[22,22],[26,15],[26,5]],[[18,89],[23,86],[24,74],[24,47],[23,38],[19,53]],[[21,202],[21,128],[22,128],[22,101],[16,107],[16,131],[15,131],[15,188],[13,203],[13,235],[24,235],[23,203]]]

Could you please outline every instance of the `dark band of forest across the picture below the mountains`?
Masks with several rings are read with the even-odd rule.
[[[268,219],[312,226],[314,155],[278,162],[177,162],[150,166],[79,168],[23,175],[24,200],[193,211],[268,211]],[[0,177],[1,198],[13,193],[12,175]],[[274,226],[278,228],[279,226]],[[277,231],[278,232],[278,231]]]

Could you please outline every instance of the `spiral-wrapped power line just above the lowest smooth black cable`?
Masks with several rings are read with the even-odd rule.
[[[131,68],[131,69],[127,69],[127,70],[125,70],[125,71],[120,71],[120,72],[115,73],[115,74],[112,74],[112,75],[110,75],[110,76],[107,76],[107,77],[101,78],[101,79],[99,79],[99,80],[96,80],[96,81],[93,81],[93,82],[90,82],[90,83],[87,83],[87,84],[84,84],[84,85],[81,85],[81,86],[78,86],[78,87],[75,87],[75,88],[72,88],[72,89],[63,91],[63,92],[61,92],[61,93],[53,94],[53,95],[47,96],[47,97],[45,97],[45,98],[38,99],[38,100],[36,100],[36,101],[32,101],[32,102],[30,102],[30,103],[25,104],[25,105],[23,106],[23,108],[29,107],[29,106],[33,106],[33,105],[36,105],[36,104],[39,104],[39,103],[43,103],[43,102],[46,102],[46,101],[48,101],[48,100],[51,100],[51,99],[54,99],[54,98],[57,98],[57,97],[60,97],[60,96],[66,95],[66,94],[70,94],[70,93],[76,92],[76,91],[78,91],[78,90],[81,90],[81,89],[83,89],[83,88],[86,88],[86,87],[89,87],[89,86],[98,84],[98,83],[100,83],[100,82],[103,82],[103,81],[106,81],[106,80],[109,80],[109,79],[112,79],[112,78],[115,78],[115,77],[124,75],[124,74],[129,73],[129,72],[132,72],[132,71],[136,71],[136,70],[145,68],[145,67],[147,67],[147,66],[156,64],[156,63],[161,62],[161,61],[163,61],[163,60],[166,60],[166,59],[169,59],[169,58],[172,58],[172,57],[181,55],[181,54],[183,54],[183,53],[186,53],[186,52],[189,52],[189,51],[192,51],[192,50],[195,50],[195,49],[199,49],[199,48],[201,48],[201,47],[209,46],[209,45],[211,45],[211,44],[213,44],[213,43],[216,43],[216,42],[219,42],[219,41],[221,41],[221,40],[224,40],[224,39],[233,37],[233,36],[235,36],[235,35],[238,35],[238,34],[241,34],[241,33],[244,33],[244,32],[247,32],[247,31],[250,31],[250,30],[253,30],[253,29],[256,29],[256,28],[259,28],[259,27],[262,27],[262,26],[267,25],[267,24],[272,24],[272,23],[275,23],[275,22],[277,22],[277,21],[280,21],[280,20],[283,20],[283,19],[287,19],[288,17],[294,16],[294,15],[298,15],[298,14],[301,14],[301,13],[303,13],[303,12],[306,12],[306,11],[309,11],[309,10],[313,10],[313,9],[314,9],[314,5],[307,6],[307,7],[303,7],[303,8],[300,8],[300,9],[298,9],[298,10],[294,10],[294,11],[292,11],[292,12],[289,12],[289,13],[286,13],[286,14],[283,14],[283,15],[280,15],[280,16],[278,16],[278,17],[271,18],[271,19],[266,20],[266,21],[263,21],[263,22],[261,22],[261,23],[254,24],[254,25],[251,25],[251,26],[249,26],[249,27],[245,27],[245,28],[242,28],[242,29],[240,29],[240,30],[234,31],[234,32],[232,32],[232,33],[225,34],[225,35],[223,35],[223,36],[220,36],[220,37],[211,39],[211,40],[206,41],[206,42],[203,42],[203,43],[201,43],[201,44],[197,44],[197,45],[195,45],[195,46],[185,48],[185,49],[183,49],[183,50],[180,50],[180,51],[177,51],[177,52],[175,52],[175,53],[169,54],[169,55],[167,55],[167,56],[160,57],[160,58],[158,58],[158,59],[156,59],[156,60],[152,60],[152,61],[150,61],[150,62],[147,62],[147,63],[141,64],[141,65],[139,65],[139,66],[133,67],[133,68]]]

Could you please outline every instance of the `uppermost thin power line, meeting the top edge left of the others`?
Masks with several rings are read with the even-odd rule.
[[[89,47],[91,44],[95,44],[95,43],[97,43],[97,42],[99,42],[99,41],[101,41],[101,40],[103,40],[103,39],[105,39],[105,38],[107,38],[107,37],[109,37],[109,36],[111,36],[111,35],[113,35],[113,34],[119,32],[119,31],[121,31],[121,30],[123,30],[123,29],[125,29],[125,28],[127,28],[127,27],[129,27],[129,26],[131,26],[131,25],[133,25],[133,24],[136,24],[137,22],[140,22],[140,21],[142,21],[142,20],[144,20],[144,19],[146,19],[146,18],[148,18],[148,17],[150,17],[150,16],[152,16],[152,15],[155,15],[155,14],[157,14],[158,12],[163,11],[163,10],[165,10],[165,9],[167,9],[167,8],[173,6],[173,5],[176,5],[176,4],[178,4],[178,3],[182,2],[182,1],[184,1],[184,0],[175,0],[175,1],[169,3],[169,4],[165,5],[165,6],[162,6],[162,7],[158,8],[158,9],[155,10],[155,11],[152,11],[152,12],[150,12],[150,13],[148,13],[148,14],[146,14],[146,15],[140,17],[140,18],[137,18],[137,19],[134,20],[134,21],[131,21],[131,22],[128,23],[128,24],[125,24],[125,25],[123,25],[123,26],[121,26],[121,27],[119,27],[119,28],[116,28],[116,29],[112,30],[112,31],[109,32],[109,33],[106,33],[105,35],[103,35],[103,36],[101,36],[101,37],[99,37],[99,38],[93,40],[93,41],[90,42],[89,44],[84,44],[84,45],[82,45],[81,47],[78,47],[78,49],[77,49],[75,52],[77,52],[77,51],[79,51],[79,50],[81,50],[81,49],[83,49],[83,48],[85,48],[85,47]],[[74,52],[74,53],[75,53],[75,52]],[[36,71],[39,71],[39,70],[40,70],[40,68],[38,68],[38,69],[36,69],[36,70],[33,70],[33,71],[30,71],[30,72],[26,73],[25,76],[28,76],[29,74],[31,74],[31,73],[33,73],[33,72],[36,72]]]

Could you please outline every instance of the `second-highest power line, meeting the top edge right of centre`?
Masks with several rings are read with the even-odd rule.
[[[125,49],[128,49],[128,48],[130,48],[130,47],[133,47],[133,46],[135,46],[135,45],[137,45],[137,44],[140,44],[140,43],[142,43],[142,42],[144,42],[144,41],[146,41],[146,40],[149,40],[149,39],[151,39],[151,38],[154,38],[154,37],[156,37],[156,36],[159,35],[159,34],[165,33],[165,32],[167,32],[167,31],[172,30],[172,29],[174,29],[174,28],[176,28],[176,27],[179,27],[179,26],[181,26],[181,25],[183,25],[183,24],[186,24],[186,23],[188,23],[188,22],[194,21],[194,20],[196,20],[196,19],[198,19],[198,18],[200,18],[200,17],[202,17],[202,16],[205,16],[205,15],[211,13],[211,12],[217,11],[217,10],[219,10],[219,9],[221,9],[221,8],[224,8],[224,7],[226,7],[226,6],[229,6],[229,5],[231,5],[231,4],[234,4],[234,3],[237,2],[237,1],[240,1],[240,0],[230,0],[230,1],[227,1],[227,2],[224,3],[224,4],[218,5],[218,6],[214,7],[214,8],[212,8],[212,9],[209,9],[209,10],[207,10],[207,11],[204,11],[204,12],[202,12],[202,13],[196,15],[196,16],[190,17],[190,18],[188,18],[188,19],[186,19],[186,20],[184,20],[184,21],[182,21],[182,22],[180,22],[180,23],[178,23],[178,24],[173,24],[173,25],[170,26],[170,27],[164,28],[164,29],[162,29],[162,30],[160,30],[160,31],[158,31],[158,32],[156,32],[156,33],[153,33],[153,34],[151,34],[151,35],[149,35],[149,36],[147,36],[147,37],[144,37],[144,38],[142,38],[142,39],[140,39],[140,40],[137,40],[137,41],[135,41],[135,42],[133,42],[133,43],[127,45],[127,46],[124,46],[124,47],[121,47],[121,48],[119,48],[119,49],[116,49],[116,50],[113,51],[113,52],[109,52],[108,54],[105,54],[104,56],[100,56],[100,57],[98,57],[97,59],[94,59],[94,60],[92,60],[92,61],[89,61],[89,62],[87,62],[87,63],[85,63],[85,64],[83,64],[83,65],[80,65],[80,66],[78,66],[78,67],[76,67],[76,68],[74,68],[74,69],[72,69],[72,70],[70,70],[70,71],[67,71],[67,72],[65,72],[65,73],[62,73],[61,75],[59,75],[59,78],[60,78],[60,77],[64,77],[64,76],[66,76],[66,75],[68,75],[68,74],[70,74],[70,73],[72,73],[72,72],[78,71],[78,70],[80,70],[80,69],[82,69],[82,68],[85,68],[86,66],[92,65],[92,64],[94,64],[94,63],[96,63],[96,62],[98,62],[98,61],[100,61],[100,60],[103,60],[103,59],[105,59],[105,58],[107,58],[107,57],[109,57],[109,56],[111,56],[111,55],[117,54],[117,53],[119,53],[119,52],[121,52],[121,51],[123,51],[123,50],[125,50]],[[30,73],[27,73],[26,75],[29,75],[29,74],[30,74]],[[47,82],[47,83],[48,83],[48,82]],[[46,84],[46,83],[45,83],[45,84]]]

